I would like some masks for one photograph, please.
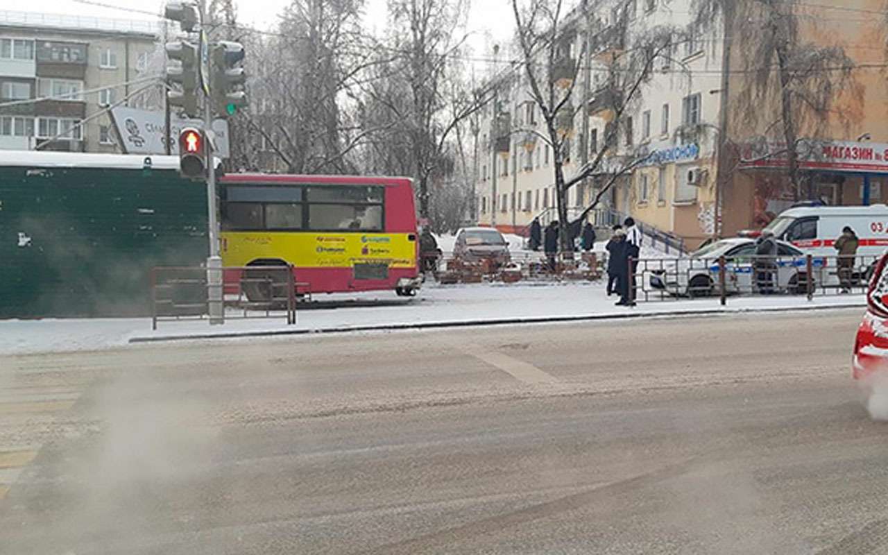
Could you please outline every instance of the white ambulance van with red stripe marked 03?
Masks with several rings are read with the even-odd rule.
[[[856,266],[860,268],[860,277],[867,277],[869,267],[888,250],[888,206],[884,204],[790,208],[781,212],[765,230],[805,254],[835,257],[833,245],[844,226],[850,226],[860,240]],[[830,260],[828,266],[835,266],[835,261]]]

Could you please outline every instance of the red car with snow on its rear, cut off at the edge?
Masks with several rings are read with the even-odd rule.
[[[863,315],[854,340],[852,370],[854,379],[873,377],[876,371],[888,371],[888,272],[885,254],[876,265],[867,289],[867,313]],[[888,374],[888,372],[886,372]]]

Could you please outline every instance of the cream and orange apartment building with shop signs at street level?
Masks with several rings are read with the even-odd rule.
[[[888,131],[882,124],[888,89],[877,69],[884,67],[884,50],[871,46],[884,44],[885,24],[866,17],[876,5],[852,0],[795,8],[799,44],[844,48],[859,66],[844,86],[835,86],[826,115],[799,118],[802,186],[790,186],[786,156],[780,155],[786,146],[779,83],[770,83],[771,92],[761,97],[749,94],[757,86],[755,69],[765,60],[755,59],[754,38],[745,44],[739,38],[746,36],[742,26],[767,14],[757,13],[758,4],[749,1],[735,5],[731,20],[721,14],[700,28],[693,24],[691,0],[620,0],[571,14],[573,21],[563,25],[564,65],[578,63],[584,41],[591,55],[579,62],[573,109],[565,111],[575,115],[559,122],[566,137],[566,177],[595,158],[605,137],[616,140],[597,174],[569,194],[571,214],[620,174],[602,199],[607,209],[677,234],[694,248],[715,234],[764,226],[796,202],[888,198],[882,186],[888,174]],[[619,60],[646,36],[663,32],[674,37],[669,48],[654,57],[650,74],[617,118],[614,107],[626,93],[626,83],[622,88],[612,83],[614,71],[622,71]],[[867,47],[861,37],[876,38],[867,38]],[[559,63],[554,79],[566,78]],[[554,172],[544,142],[527,133],[528,126],[543,130],[521,67],[499,67],[492,79],[500,84],[499,105],[485,111],[481,125],[478,219],[521,233],[536,216],[551,218]],[[612,125],[615,135],[608,132]],[[870,160],[862,160],[866,156]]]

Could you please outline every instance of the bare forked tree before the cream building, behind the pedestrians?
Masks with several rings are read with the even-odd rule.
[[[621,131],[631,133],[626,126],[627,116],[653,72],[654,59],[670,56],[672,44],[681,34],[672,28],[654,28],[647,29],[644,36],[630,37],[628,8],[624,6],[619,19],[611,25],[596,24],[589,34],[592,39],[587,42],[583,40],[583,31],[591,22],[583,20],[579,13],[603,12],[605,3],[583,1],[579,13],[567,13],[564,4],[563,0],[511,0],[521,66],[527,76],[530,97],[543,116],[544,133],[538,134],[552,148],[559,247],[562,251],[570,251],[567,221],[570,189],[591,175],[604,173],[609,176],[599,187],[593,202],[583,211],[581,218],[585,218],[614,183],[644,161],[643,153],[632,149],[614,165],[618,161],[615,156],[617,139]],[[593,102],[610,114],[604,145],[589,163],[568,179],[564,172],[568,155],[566,147],[575,115],[587,108],[584,99],[580,99],[575,107],[577,76],[581,68],[593,63],[592,54],[602,51],[611,52],[602,67],[607,71],[607,83],[596,92]],[[532,129],[515,131],[536,132]]]

